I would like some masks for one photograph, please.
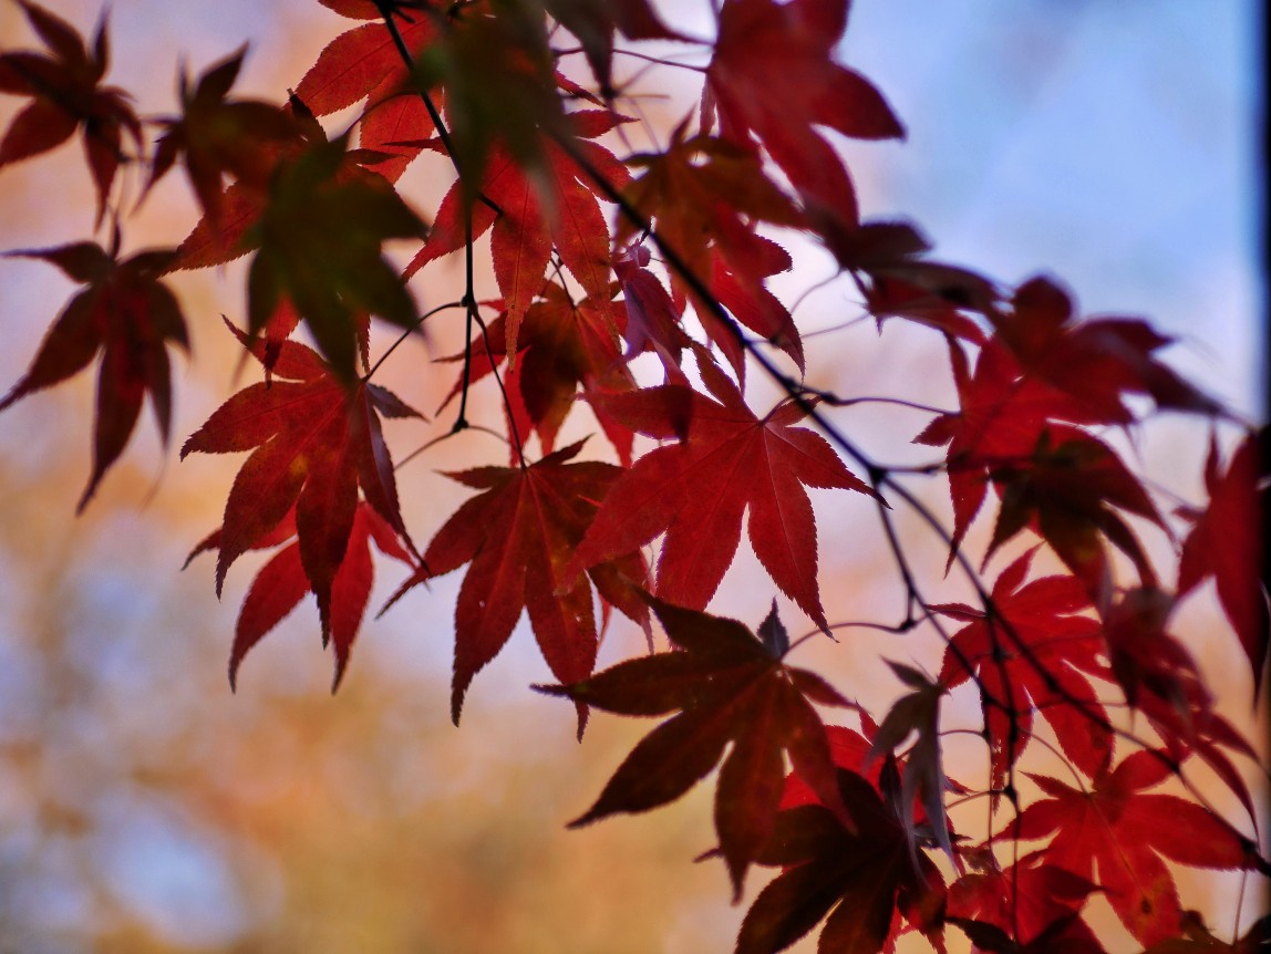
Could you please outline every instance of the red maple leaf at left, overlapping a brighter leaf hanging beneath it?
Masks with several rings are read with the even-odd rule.
[[[229,324],[229,323],[226,323]],[[264,342],[244,347],[264,363]],[[411,549],[380,415],[419,417],[391,391],[360,381],[346,386],[313,349],[282,342],[273,380],[248,385],[216,409],[186,441],[193,451],[252,451],[225,502],[216,560],[216,593],[225,573],[259,546],[295,507],[300,563],[318,597],[323,635],[332,633],[333,586],[357,511],[357,489]],[[254,450],[253,450],[254,448]]]

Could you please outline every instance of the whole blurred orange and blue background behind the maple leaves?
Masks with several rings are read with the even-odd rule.
[[[95,0],[47,5],[85,33],[100,13]],[[1150,315],[1179,338],[1171,363],[1257,415],[1258,4],[857,0],[852,17],[846,62],[909,128],[904,144],[840,144],[867,215],[913,216],[939,258],[1004,283],[1049,271],[1087,312]],[[238,89],[278,100],[348,25],[313,0],[116,0],[109,18],[112,80],[137,94],[145,116],[175,108],[178,64],[200,72],[244,39]],[[0,4],[0,47],[34,44],[20,10]],[[0,99],[0,126],[17,108]],[[445,171],[421,163],[409,173],[421,211],[435,208]],[[81,240],[92,210],[78,141],[5,168],[0,250]],[[170,175],[127,226],[126,250],[178,241],[193,217],[184,180]],[[797,268],[775,286],[787,300],[831,273],[816,249],[797,252]],[[454,279],[433,267],[413,286],[421,305],[454,297]],[[236,373],[219,320],[241,321],[241,271],[183,274],[173,286],[197,354],[175,370],[183,440],[249,371]],[[0,389],[23,373],[70,291],[44,263],[0,259]],[[839,286],[799,307],[808,329],[859,312]],[[454,340],[442,329],[432,353]],[[925,380],[930,400],[948,400],[947,359],[921,329],[888,326],[880,338],[866,323],[812,340],[813,384],[913,398],[913,382]],[[431,414],[452,371],[422,367],[390,363],[384,382]],[[577,744],[572,708],[526,689],[548,673],[524,624],[474,682],[463,727],[450,724],[461,574],[367,621],[338,696],[311,602],[253,650],[231,695],[234,620],[262,560],[235,565],[224,603],[211,558],[179,567],[220,523],[240,459],[200,455],[178,466],[144,419],[76,518],[92,401],[84,375],[0,415],[0,954],[731,949],[744,907],[730,906],[722,866],[691,863],[713,843],[709,790],[652,816],[563,831],[651,724],[599,716]],[[482,408],[497,426],[496,406]],[[913,412],[862,414],[853,433],[895,460],[924,423]],[[438,432],[389,427],[398,457]],[[1162,418],[1148,432],[1129,452],[1171,492],[1197,499],[1205,427]],[[416,539],[430,539],[465,497],[435,470],[502,453],[466,434],[407,465]],[[943,499],[941,488],[927,490]],[[827,615],[894,621],[900,607],[872,514],[834,495],[816,503]],[[938,578],[943,553],[919,528],[905,531]],[[402,575],[379,569],[372,607]],[[773,596],[744,542],[713,607],[754,625]],[[1239,650],[1211,625],[1207,600],[1188,601],[1179,633],[1207,671],[1235,673],[1223,676],[1224,711],[1254,730]],[[803,631],[807,621],[783,611]],[[642,645],[615,625],[601,663]],[[880,652],[938,664],[934,642],[916,634],[822,640],[801,662],[885,709],[899,686]],[[969,774],[982,756],[974,765]],[[761,883],[763,873],[751,875],[750,897]],[[1190,878],[1185,903],[1229,936],[1237,883]],[[1246,901],[1244,924],[1256,908]],[[1118,930],[1108,927],[1110,949],[1134,949]]]

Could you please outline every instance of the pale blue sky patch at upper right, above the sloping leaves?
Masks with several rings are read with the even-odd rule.
[[[1152,316],[1183,339],[1177,366],[1254,410],[1257,9],[858,0],[846,60],[910,132],[853,149],[881,166],[866,208],[1004,282],[1054,271],[1089,311]]]

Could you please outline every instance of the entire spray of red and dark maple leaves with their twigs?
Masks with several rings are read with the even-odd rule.
[[[848,0],[723,0],[705,38],[647,0],[320,0],[350,23],[287,97],[235,95],[240,50],[182,75],[175,112],[145,118],[107,85],[104,19],[85,39],[17,3],[34,39],[0,51],[0,93],[24,102],[0,166],[78,137],[103,238],[8,253],[81,288],[0,410],[98,363],[80,508],[147,399],[169,442],[172,354],[189,351],[188,323],[221,321],[183,315],[179,273],[248,257],[226,334],[252,380],[180,447],[244,455],[222,525],[191,555],[215,551],[217,595],[239,558],[272,551],[247,589],[231,685],[313,593],[338,686],[376,568],[404,573],[390,606],[461,570],[454,720],[522,616],[557,680],[535,689],[573,704],[580,737],[594,710],[660,719],[571,826],[712,785],[707,857],[749,903],[740,954],[817,931],[825,954],[891,950],[906,932],[942,951],[955,936],[982,951],[1101,951],[1084,920],[1094,897],[1149,951],[1262,949],[1266,918],[1229,944],[1176,887],[1174,866],[1242,870],[1257,898],[1271,864],[1247,781],[1257,752],[1171,630],[1213,579],[1257,695],[1265,431],[1173,371],[1171,339],[1148,321],[1083,318],[1056,278],[1003,287],[929,258],[914,225],[862,216],[827,131],[904,127],[835,58]],[[615,80],[625,55],[655,60],[646,86],[677,66],[698,84],[695,105],[647,138]],[[324,123],[350,109],[351,124]],[[452,177],[430,216],[397,188],[425,152]],[[202,217],[172,248],[125,252],[136,196],[178,168]],[[880,462],[848,429],[852,401],[806,382],[815,343],[768,287],[791,265],[791,234],[833,255],[880,334],[910,323],[946,349],[957,405],[919,412],[905,434],[930,465]],[[473,277],[482,254],[491,288]],[[422,310],[438,259],[463,263],[465,293]],[[379,353],[372,323],[398,334]],[[461,324],[466,344],[427,365],[412,349],[441,323]],[[435,422],[375,381],[390,361],[452,376]],[[756,379],[775,401],[752,396]],[[417,544],[404,451],[381,422],[463,441],[477,389],[498,395],[507,453],[474,443],[480,462],[445,475],[472,495]],[[1166,412],[1211,434],[1197,504],[1162,498],[1118,450]],[[595,433],[558,446],[580,418]],[[947,501],[924,495],[937,483]],[[808,488],[874,514],[904,584],[892,617],[827,617],[819,553],[833,530]],[[944,581],[901,542],[901,511],[927,526],[965,602],[928,597]],[[793,607],[784,621],[775,600],[754,629],[707,612],[744,525]],[[597,672],[615,614],[649,652]],[[850,626],[928,629],[943,658],[915,666],[897,644],[901,690],[868,711],[848,681],[797,664],[801,644]],[[955,695],[977,701],[984,749],[956,771],[943,756]],[[1199,779],[1240,810],[1216,812]]]

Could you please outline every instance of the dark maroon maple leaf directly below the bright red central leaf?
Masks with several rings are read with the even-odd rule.
[[[773,832],[785,776],[783,751],[841,816],[825,727],[810,700],[848,701],[820,676],[783,662],[789,638],[775,602],[756,638],[736,620],[647,598],[677,652],[629,659],[569,685],[536,686],[622,715],[679,710],[632,749],[596,804],[569,827],[677,799],[714,769],[731,742],[716,789],[716,831],[740,897],[747,866]]]

